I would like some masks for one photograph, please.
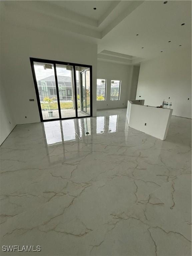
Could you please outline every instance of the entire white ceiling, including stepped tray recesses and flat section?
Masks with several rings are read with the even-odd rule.
[[[102,60],[138,64],[191,45],[191,1],[1,2],[8,22],[94,41]]]

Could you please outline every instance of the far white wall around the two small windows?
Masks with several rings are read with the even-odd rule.
[[[97,78],[107,79],[106,100],[97,101],[97,109],[123,108],[127,106],[131,88],[132,66],[106,61],[97,62]],[[121,80],[120,100],[110,100],[111,80]]]

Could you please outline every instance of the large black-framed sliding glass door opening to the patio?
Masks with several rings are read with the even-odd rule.
[[[91,66],[30,61],[41,121],[91,116]]]

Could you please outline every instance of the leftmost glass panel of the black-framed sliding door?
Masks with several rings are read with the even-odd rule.
[[[43,120],[59,118],[54,66],[33,62]]]

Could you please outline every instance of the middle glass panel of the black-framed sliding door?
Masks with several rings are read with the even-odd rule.
[[[61,118],[76,117],[73,66],[56,64]]]

